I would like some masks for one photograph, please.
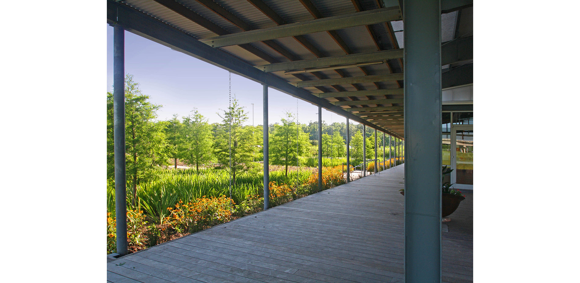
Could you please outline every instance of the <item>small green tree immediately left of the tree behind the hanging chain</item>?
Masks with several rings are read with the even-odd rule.
[[[183,118],[181,155],[195,170],[200,172],[200,165],[206,165],[213,159],[212,127],[208,119],[197,110]]]

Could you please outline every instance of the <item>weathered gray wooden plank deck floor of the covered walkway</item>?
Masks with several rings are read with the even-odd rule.
[[[107,280],[403,282],[403,170],[121,257],[107,263]],[[443,225],[443,282],[473,282],[473,194],[466,197]]]

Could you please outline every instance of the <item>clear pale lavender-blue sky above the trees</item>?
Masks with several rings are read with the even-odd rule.
[[[210,123],[221,122],[219,109],[229,104],[228,72],[164,45],[125,31],[125,73],[132,74],[143,94],[163,107],[158,119],[181,119],[197,107]],[[113,27],[107,25],[107,92],[113,91]],[[269,123],[279,122],[286,111],[296,114],[296,98],[269,89]],[[262,85],[231,74],[231,93],[248,112],[247,125],[262,124]],[[103,93],[104,95],[104,93]],[[222,111],[219,111],[222,113]],[[318,107],[298,100],[300,123],[317,121]],[[346,122],[346,118],[322,109],[322,120]],[[356,123],[356,122],[354,122]]]

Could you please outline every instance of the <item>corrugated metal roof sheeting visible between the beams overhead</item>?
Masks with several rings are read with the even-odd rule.
[[[264,14],[261,10],[256,8],[247,0],[213,0],[214,2],[205,2],[206,0],[176,0],[187,9],[190,9],[194,13],[197,13],[204,19],[211,21],[211,23],[216,24],[223,30],[230,33],[242,32],[245,30],[253,30],[259,28],[269,28],[276,27],[278,24],[272,20],[269,16]],[[379,8],[378,0],[357,0],[353,2],[351,0],[310,0],[316,11],[321,17],[331,17],[338,16],[342,14],[351,14],[357,11],[355,3],[360,4],[360,10],[372,10]],[[280,1],[280,0],[263,0],[263,2],[273,10],[277,16],[280,16],[282,20],[286,23],[296,23],[299,21],[313,20],[315,16],[309,12],[309,10],[300,1]],[[184,16],[174,12],[173,10],[166,8],[154,0],[126,0],[124,3],[140,10],[150,16],[160,19],[171,26],[187,32],[193,37],[198,39],[215,37],[216,33],[209,31],[207,28],[200,26],[200,24],[194,23],[193,21],[187,19]],[[235,19],[225,19],[227,15],[220,15],[214,12],[212,9],[207,8],[202,5],[202,3],[207,3],[206,5],[215,5],[216,9],[225,9],[227,12],[233,14],[233,16],[243,23],[240,27],[232,23]],[[219,6],[218,6],[219,5]],[[459,17],[459,20],[457,20]],[[372,32],[374,32],[376,38],[372,38],[371,33],[365,26],[349,27],[343,28],[335,31],[340,39],[344,42],[346,47],[350,49],[351,53],[364,53],[364,52],[375,52],[377,50],[377,44],[382,50],[387,50],[393,48],[398,43],[399,48],[403,48],[403,31],[404,25],[403,21],[392,21],[390,22],[392,26],[392,31],[396,37],[397,42],[391,42],[390,31],[388,30],[388,24],[373,24],[370,26]],[[442,41],[449,41],[456,37],[462,37],[465,35],[473,35],[473,8],[465,8],[460,11],[454,11],[447,14],[441,15],[441,37]],[[316,32],[313,34],[301,35],[310,45],[314,46],[318,52],[322,53],[322,56],[342,56],[345,55],[345,50],[335,41],[329,32]],[[375,44],[375,40],[377,44]],[[266,56],[270,56],[271,60],[274,62],[287,62],[289,58],[292,60],[308,60],[316,59],[317,56],[309,49],[305,48],[302,43],[300,43],[296,38],[285,37],[277,38],[271,40],[274,46],[269,46],[264,42],[252,42],[248,43],[248,46],[257,50],[255,53],[264,53]],[[275,45],[280,46],[276,48]],[[240,46],[225,46],[219,48],[224,52],[230,53],[233,56],[240,58],[241,60],[247,61],[248,64],[252,66],[268,64],[266,60],[260,58],[258,55],[249,52],[245,48]],[[287,55],[285,52],[290,53]],[[469,62],[471,62],[470,60]],[[465,62],[459,63],[464,64]],[[400,66],[400,59],[390,60],[390,64],[395,72],[400,72],[402,66]],[[456,64],[455,64],[456,65]],[[452,65],[453,67],[454,65]],[[340,74],[339,74],[340,73]],[[349,67],[339,70],[324,70],[317,71],[316,73],[306,72],[303,74],[296,75],[285,75],[284,71],[272,72],[271,74],[277,77],[283,78],[288,82],[299,82],[303,80],[318,80],[318,79],[335,79],[342,77],[363,77],[365,75],[379,75],[379,74],[389,74],[389,67],[387,64],[380,64],[375,66],[365,66],[365,67]],[[342,74],[342,75],[341,75]],[[360,84],[342,84],[338,86],[321,86],[321,87],[306,87],[303,88],[311,93],[322,93],[322,92],[338,92],[340,91],[355,91],[355,90],[374,90],[374,89],[394,89],[398,88],[399,85],[396,81],[387,82],[364,82]],[[403,95],[387,95],[388,98],[396,99],[402,98]],[[384,99],[384,95],[371,96],[371,99]],[[361,96],[362,100],[365,100],[364,96]],[[328,98],[328,101],[350,101],[350,98],[338,97],[338,98]],[[369,101],[371,103],[371,101]],[[368,104],[369,106],[375,106],[377,104]],[[385,105],[385,104],[380,104]],[[390,106],[390,104],[386,104]],[[348,108],[349,106],[342,106],[343,108]],[[357,107],[361,108],[361,107]],[[361,111],[365,111],[365,108],[361,108]],[[383,127],[388,128],[388,127]]]

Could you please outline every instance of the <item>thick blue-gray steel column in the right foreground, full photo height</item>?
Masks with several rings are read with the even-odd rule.
[[[441,282],[441,5],[403,5],[405,282]]]

